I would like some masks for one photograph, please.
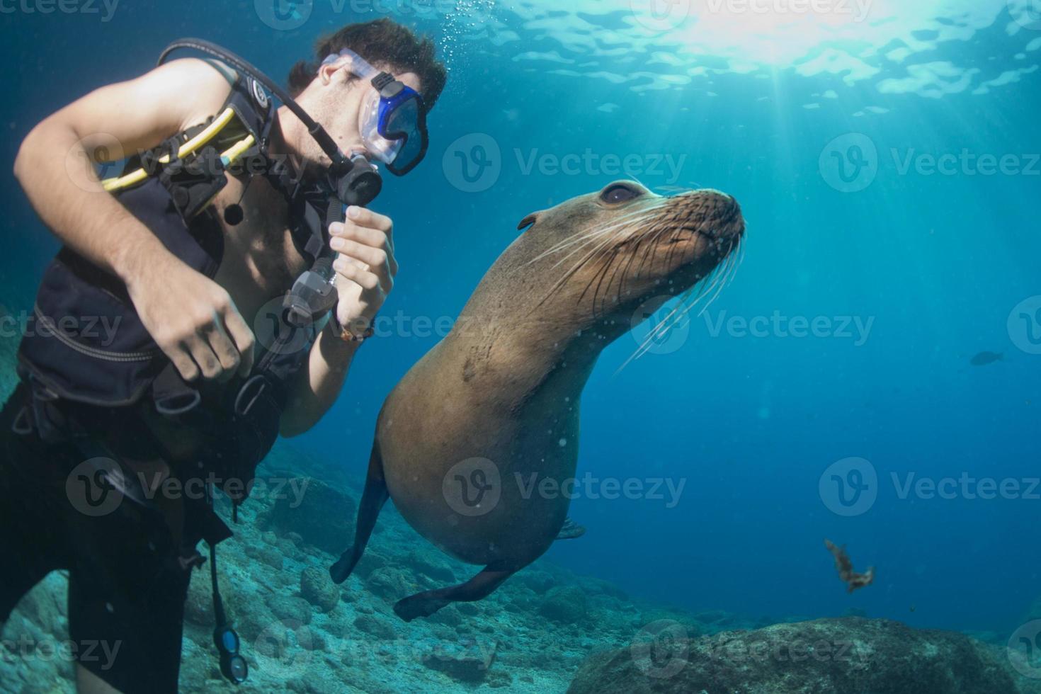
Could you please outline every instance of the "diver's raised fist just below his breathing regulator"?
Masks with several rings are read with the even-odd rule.
[[[349,207],[347,220],[329,226],[329,246],[337,252],[336,319],[345,330],[360,334],[393,288],[398,261],[393,257],[390,217],[363,207]]]

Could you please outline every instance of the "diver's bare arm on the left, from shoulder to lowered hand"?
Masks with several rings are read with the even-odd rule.
[[[224,103],[228,82],[202,60],[175,60],[101,87],[25,137],[15,176],[62,242],[124,281],[145,328],[186,379],[248,372],[253,334],[228,293],[167,251],[104,191],[92,162],[154,147]]]

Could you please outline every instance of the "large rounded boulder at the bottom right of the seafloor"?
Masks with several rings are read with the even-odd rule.
[[[696,640],[662,621],[642,637],[586,659],[568,694],[1018,691],[987,646],[888,620],[820,619]]]

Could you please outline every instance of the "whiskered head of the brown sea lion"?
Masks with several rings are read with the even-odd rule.
[[[745,225],[723,192],[663,197],[621,180],[529,214],[518,229],[527,231],[500,259],[508,295],[530,304],[539,323],[613,338],[650,300],[689,298],[731,259],[729,269]]]

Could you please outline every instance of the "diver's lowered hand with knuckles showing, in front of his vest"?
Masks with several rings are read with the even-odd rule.
[[[253,368],[253,332],[225,289],[173,255],[127,282],[145,329],[185,381]]]

